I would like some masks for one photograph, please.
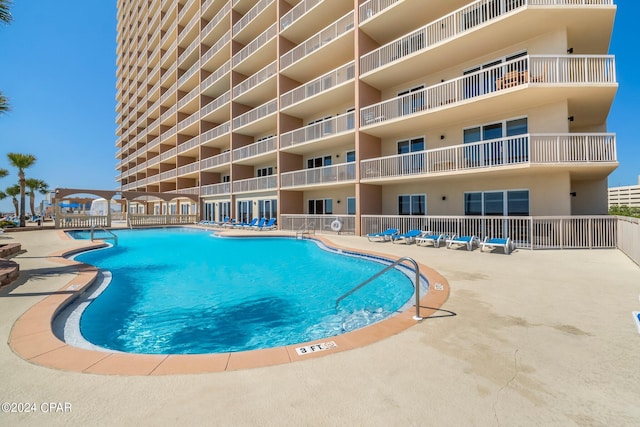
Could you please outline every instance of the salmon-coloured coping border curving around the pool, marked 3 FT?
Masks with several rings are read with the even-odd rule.
[[[63,240],[73,240],[64,231],[60,231],[58,235]],[[256,233],[255,237],[264,237],[264,235]],[[330,248],[393,259],[389,254],[339,245],[323,236],[316,235],[313,238]],[[421,320],[414,320],[415,304],[411,304],[397,315],[355,331],[268,349],[193,355],[147,355],[81,349],[56,337],[52,323],[61,310],[94,283],[98,269],[67,257],[105,246],[107,246],[106,243],[96,240],[89,245],[78,245],[49,254],[47,258],[49,261],[75,266],[77,272],[64,286],[52,292],[53,295],[35,303],[14,322],[8,344],[16,355],[30,363],[47,368],[102,375],[153,376],[213,373],[280,365],[353,350],[396,335],[421,322]],[[429,292],[420,299],[420,315],[423,319],[427,319],[446,302],[450,288],[448,281],[436,270],[421,263],[418,265],[420,273],[431,285],[442,285],[441,288],[438,286],[438,289],[430,286]],[[296,352],[296,348],[325,342],[334,342],[336,346],[303,355]]]

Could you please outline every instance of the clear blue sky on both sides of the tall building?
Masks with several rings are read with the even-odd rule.
[[[607,127],[620,166],[609,186],[636,185],[640,60],[631,47],[640,41],[640,1],[615,3],[619,88]],[[11,105],[0,115],[0,168],[10,171],[0,189],[17,182],[9,152],[35,155],[26,175],[51,189],[116,189],[116,0],[14,0],[11,12],[13,22],[0,24],[0,91]],[[11,211],[10,199],[0,201],[0,212]]]

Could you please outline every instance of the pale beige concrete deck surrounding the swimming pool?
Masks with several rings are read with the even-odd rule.
[[[48,256],[78,245],[53,230],[6,233],[2,243],[19,242],[25,251],[12,258],[20,278],[0,289],[0,401],[33,403],[35,411],[0,412],[0,424],[640,423],[640,334],[631,316],[640,309],[640,268],[621,252],[506,256],[324,237],[356,250],[410,256],[447,279],[449,298],[398,334],[326,357],[125,376],[38,366],[6,344],[17,319],[76,280],[73,268]]]

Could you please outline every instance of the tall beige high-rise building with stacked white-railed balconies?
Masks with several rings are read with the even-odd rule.
[[[117,181],[200,196],[175,213],[290,230],[606,214],[615,13],[613,0],[118,0]]]

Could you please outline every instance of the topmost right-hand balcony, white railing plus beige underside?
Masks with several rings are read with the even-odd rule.
[[[615,15],[607,5],[612,0],[479,0],[361,56],[362,79],[391,87],[466,61],[471,44],[481,56],[530,40],[532,30],[564,31],[576,52],[604,53]]]

